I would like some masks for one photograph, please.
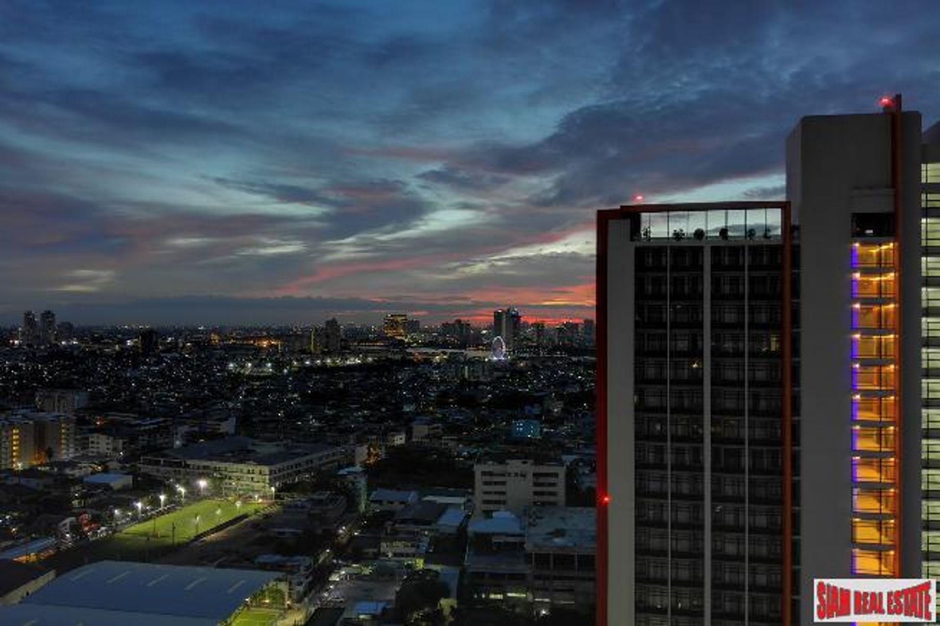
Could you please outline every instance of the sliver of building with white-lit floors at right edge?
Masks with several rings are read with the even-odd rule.
[[[922,575],[940,578],[940,123],[924,133],[922,162]]]

